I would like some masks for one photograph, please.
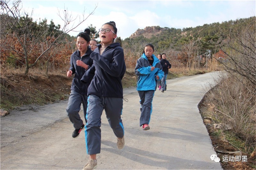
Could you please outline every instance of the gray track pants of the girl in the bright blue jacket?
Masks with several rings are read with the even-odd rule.
[[[140,96],[140,126],[149,124],[155,90],[138,91]]]

